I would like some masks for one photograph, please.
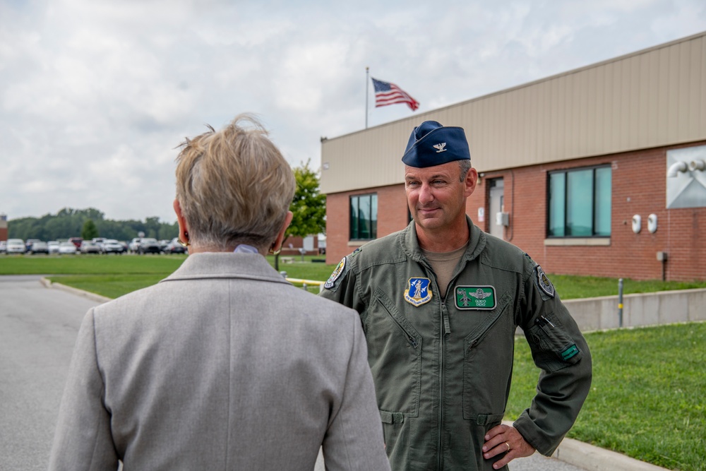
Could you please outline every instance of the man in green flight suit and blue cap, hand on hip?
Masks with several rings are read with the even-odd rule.
[[[542,268],[465,215],[478,173],[463,129],[424,121],[402,162],[414,220],[343,258],[322,293],[360,314],[392,469],[551,455],[590,390],[585,339]],[[510,427],[517,326],[542,371]]]

